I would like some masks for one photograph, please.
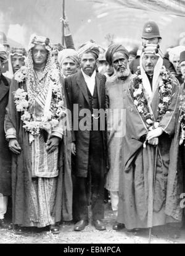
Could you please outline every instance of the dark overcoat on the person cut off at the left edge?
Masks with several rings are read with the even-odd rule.
[[[9,98],[10,79],[0,76],[0,193],[11,194],[11,153],[5,139],[4,116]]]

